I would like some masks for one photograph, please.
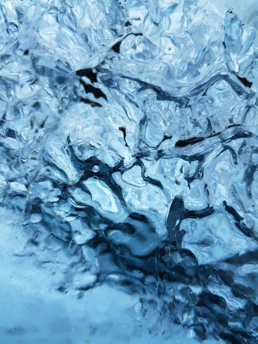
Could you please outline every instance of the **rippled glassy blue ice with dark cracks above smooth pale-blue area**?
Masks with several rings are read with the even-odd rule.
[[[150,332],[257,343],[257,27],[190,0],[2,2],[15,255],[64,294],[139,294]]]

